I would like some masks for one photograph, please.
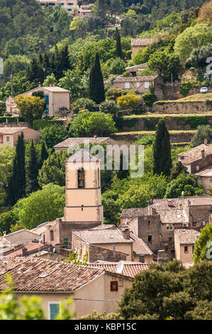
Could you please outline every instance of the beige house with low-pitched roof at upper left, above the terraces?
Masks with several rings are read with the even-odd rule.
[[[43,87],[39,84],[38,87],[34,88],[33,90],[29,90],[22,95],[31,96],[33,95],[33,92],[38,92],[40,90],[44,93],[46,102],[45,114],[47,114],[49,117],[56,116],[60,108],[66,108],[69,110],[69,90],[65,90],[64,88],[57,87],[55,85],[50,87]]]

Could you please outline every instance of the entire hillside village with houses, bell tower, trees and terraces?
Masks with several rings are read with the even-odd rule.
[[[0,320],[6,293],[28,320],[211,320],[211,1],[138,2],[33,0],[67,26],[29,60],[2,41]]]

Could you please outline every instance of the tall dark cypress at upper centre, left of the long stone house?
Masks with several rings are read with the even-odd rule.
[[[101,65],[99,61],[99,54],[96,53],[94,64],[91,67],[89,76],[89,97],[96,104],[104,102],[104,81],[101,74]]]

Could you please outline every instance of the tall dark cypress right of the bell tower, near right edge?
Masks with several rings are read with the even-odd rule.
[[[157,123],[155,143],[153,144],[154,166],[153,173],[169,176],[172,168],[171,146],[169,141],[169,131],[163,119]]]

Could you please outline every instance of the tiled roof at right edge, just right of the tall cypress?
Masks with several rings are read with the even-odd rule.
[[[201,144],[188,151],[177,154],[183,164],[189,164],[193,161],[202,158],[202,152],[204,150],[204,156],[212,154],[212,144]],[[182,159],[183,158],[183,159]]]

